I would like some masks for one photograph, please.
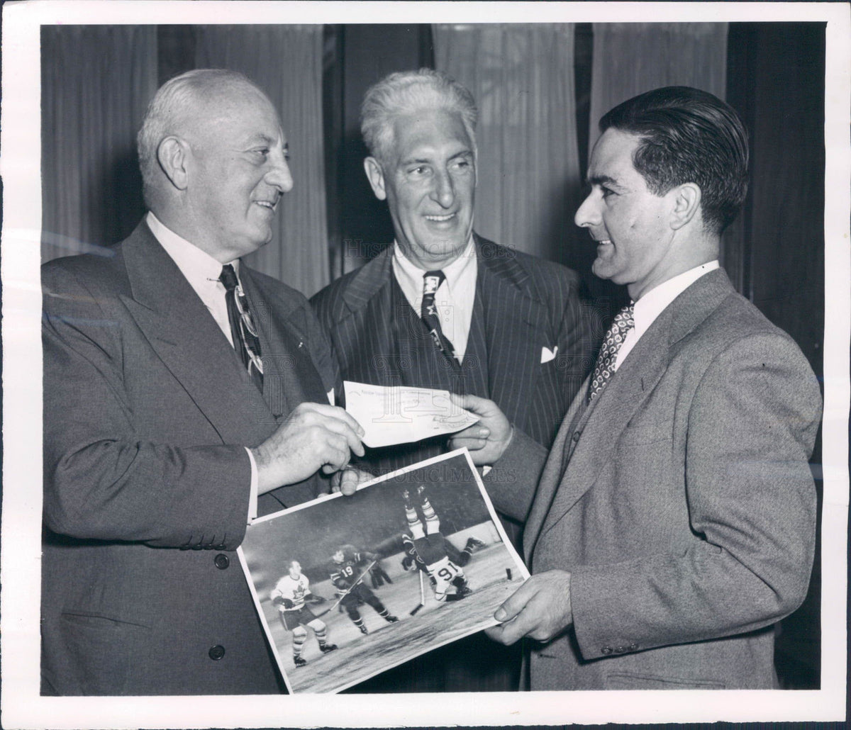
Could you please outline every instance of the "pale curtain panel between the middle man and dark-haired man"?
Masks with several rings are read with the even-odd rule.
[[[432,26],[435,67],[479,110],[476,230],[547,259],[574,239],[580,188],[572,24]]]

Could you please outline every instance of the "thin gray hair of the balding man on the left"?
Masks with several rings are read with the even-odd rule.
[[[197,68],[169,79],[157,89],[145,112],[145,119],[136,135],[139,167],[142,173],[142,196],[148,208],[154,194],[154,180],[159,163],[157,148],[169,134],[180,134],[186,117],[197,113],[209,100],[214,89],[248,84],[266,95],[251,79],[224,68]]]

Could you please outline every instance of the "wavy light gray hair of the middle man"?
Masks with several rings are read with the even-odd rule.
[[[442,71],[421,68],[397,71],[371,86],[361,106],[361,134],[369,154],[385,163],[393,144],[393,120],[421,109],[445,109],[458,114],[476,148],[478,110],[473,95]]]

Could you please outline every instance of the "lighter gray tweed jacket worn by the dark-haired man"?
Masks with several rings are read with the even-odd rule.
[[[574,627],[534,648],[532,688],[773,687],[772,624],[813,562],[820,407],[797,345],[713,271],[577,397],[537,493],[520,482],[545,453],[516,433],[497,465],[518,479],[488,491],[528,514],[534,573],[572,573]]]

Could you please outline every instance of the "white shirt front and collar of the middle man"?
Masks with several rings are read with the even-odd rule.
[[[452,343],[458,362],[464,362],[473,318],[473,302],[476,300],[478,273],[476,246],[472,236],[464,252],[451,264],[444,266],[442,271],[446,278],[434,297],[440,317],[440,328]],[[422,308],[425,273],[425,270],[405,258],[398,242],[393,242],[393,276],[418,317]]]

